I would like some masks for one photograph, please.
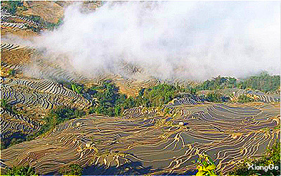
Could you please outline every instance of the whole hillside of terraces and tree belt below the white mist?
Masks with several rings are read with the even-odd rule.
[[[73,4],[1,1],[1,175],[14,166],[38,175],[67,167],[195,175],[201,153],[227,175],[280,140],[280,75],[162,79],[120,60],[119,73],[89,76],[67,55],[48,54],[35,40],[63,26]],[[81,1],[81,9],[103,4]]]

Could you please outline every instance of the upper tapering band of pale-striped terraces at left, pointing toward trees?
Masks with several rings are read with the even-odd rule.
[[[72,106],[84,108],[91,104],[80,94],[48,80],[17,78],[4,80],[1,94],[4,99],[11,99],[12,104],[21,103],[27,107],[41,106],[41,108],[51,109],[54,106],[72,103]]]

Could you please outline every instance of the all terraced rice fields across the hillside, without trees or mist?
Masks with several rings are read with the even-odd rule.
[[[39,15],[56,23],[62,18],[62,7],[71,3],[29,2],[25,15]],[[84,6],[94,9],[100,4],[85,2]],[[1,9],[1,37],[37,36],[29,27],[39,26]],[[15,133],[38,132],[41,120],[55,107],[86,109],[92,105],[86,96],[67,89],[58,80],[91,87],[112,79],[119,91],[128,96],[137,96],[141,88],[160,83],[135,65],[121,63],[121,68],[123,75],[86,77],[44,58],[33,46],[1,42],[1,99],[26,112],[17,114],[1,108],[1,139]],[[9,75],[9,70],[15,70],[15,75]],[[280,139],[280,92],[221,91],[228,96],[235,92],[233,99],[249,94],[257,102],[221,104],[183,97],[164,106],[169,109],[166,115],[161,108],[143,107],[127,109],[122,117],[85,115],[58,125],[43,138],[1,150],[0,167],[28,163],[45,175],[57,174],[63,165],[77,163],[86,167],[84,175],[187,175],[196,168],[192,161],[197,154],[207,152],[214,158],[218,173],[226,174],[235,163],[261,156],[266,146]]]

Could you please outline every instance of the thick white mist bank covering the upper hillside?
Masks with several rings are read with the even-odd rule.
[[[125,74],[124,63],[160,79],[280,75],[280,1],[110,1],[91,13],[80,5],[33,44],[87,77]]]

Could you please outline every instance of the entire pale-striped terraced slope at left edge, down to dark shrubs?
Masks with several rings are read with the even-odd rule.
[[[4,79],[1,86],[1,99],[8,100],[8,103],[15,108],[26,112],[24,115],[18,115],[1,109],[2,139],[8,138],[15,132],[22,134],[38,132],[41,119],[57,106],[83,109],[91,105],[91,102],[80,94],[48,80]]]

